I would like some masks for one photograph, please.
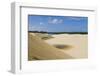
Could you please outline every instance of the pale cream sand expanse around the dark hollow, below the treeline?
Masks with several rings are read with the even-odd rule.
[[[51,45],[67,45],[71,46],[69,49],[63,49],[66,54],[73,58],[87,58],[88,57],[88,36],[80,34],[60,34],[53,35],[54,38],[45,40]]]

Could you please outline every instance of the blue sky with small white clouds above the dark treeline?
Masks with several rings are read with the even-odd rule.
[[[29,15],[29,31],[87,32],[88,17]]]

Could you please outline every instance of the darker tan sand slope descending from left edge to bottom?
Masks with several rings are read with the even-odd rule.
[[[41,40],[35,34],[28,34],[28,59],[50,60],[71,59],[72,57]]]

